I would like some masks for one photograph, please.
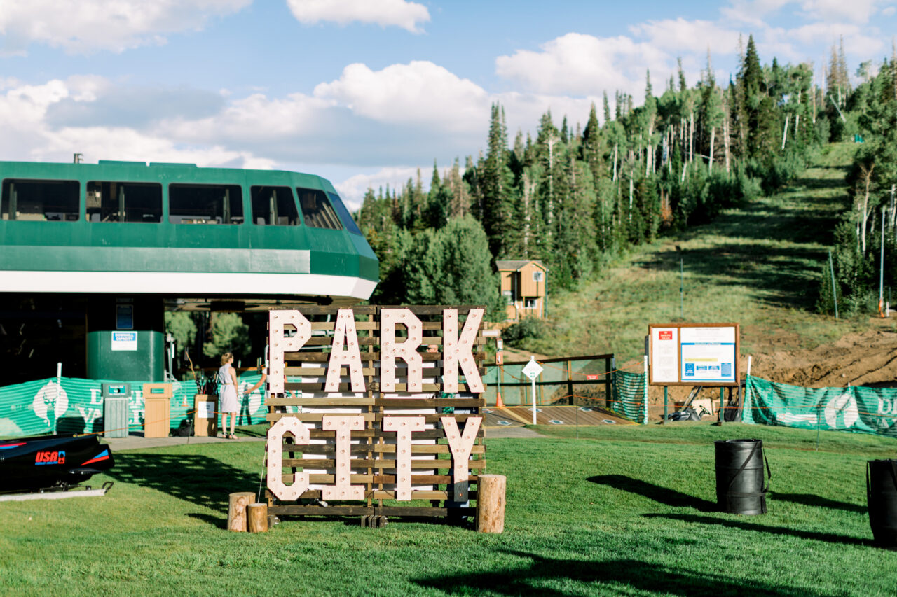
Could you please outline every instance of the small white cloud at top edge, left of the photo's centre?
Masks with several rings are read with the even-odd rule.
[[[306,25],[357,21],[422,33],[421,24],[430,21],[426,6],[405,0],[287,0],[287,4],[296,20]]]

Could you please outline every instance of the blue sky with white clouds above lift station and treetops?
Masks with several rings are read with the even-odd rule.
[[[892,56],[897,0],[0,0],[0,160],[189,162],[328,178],[351,207],[509,134],[717,80],[739,35],[854,71]]]

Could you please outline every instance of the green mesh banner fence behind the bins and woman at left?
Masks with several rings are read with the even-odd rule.
[[[265,421],[261,392],[245,393],[259,378],[258,375],[239,378],[243,402],[240,424]],[[103,381],[122,383],[118,380]],[[53,377],[0,387],[0,437],[101,432],[102,383],[94,379]],[[129,383],[132,396],[128,400],[128,426],[138,430],[144,426],[144,382]],[[196,384],[172,382],[172,386],[174,395],[171,398],[170,426],[178,428],[182,420],[192,417]]]

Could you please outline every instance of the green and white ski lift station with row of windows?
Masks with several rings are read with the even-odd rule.
[[[0,162],[0,179],[0,358],[19,371],[161,381],[165,309],[351,305],[379,281],[322,177],[100,161]]]

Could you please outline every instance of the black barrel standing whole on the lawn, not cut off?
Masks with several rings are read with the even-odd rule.
[[[729,514],[766,514],[761,439],[719,439],[716,446],[717,504]],[[769,463],[766,472],[769,473]],[[771,477],[771,475],[770,475]]]

